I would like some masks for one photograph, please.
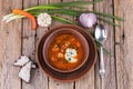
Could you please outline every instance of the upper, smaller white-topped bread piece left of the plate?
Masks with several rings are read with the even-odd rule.
[[[29,61],[30,61],[29,57],[21,56],[20,59],[18,59],[17,62],[14,62],[13,65],[22,67],[22,66],[24,66]]]

